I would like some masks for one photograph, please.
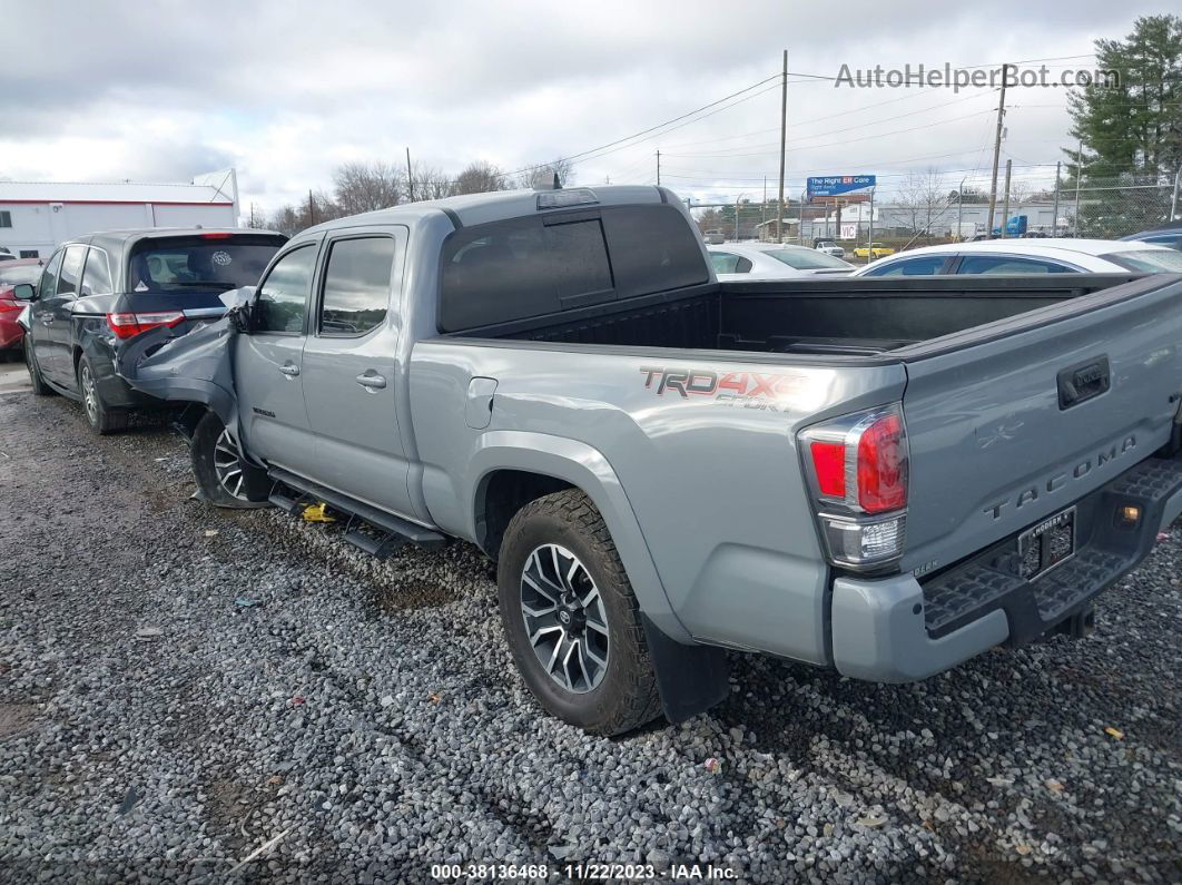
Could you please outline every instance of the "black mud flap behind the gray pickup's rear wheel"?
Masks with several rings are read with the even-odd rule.
[[[709,710],[730,694],[727,653],[714,645],[683,645],[665,636],[641,612],[644,638],[652,656],[661,709],[678,723]]]

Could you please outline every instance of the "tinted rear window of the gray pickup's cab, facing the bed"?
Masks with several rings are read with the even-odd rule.
[[[457,332],[708,280],[696,235],[670,206],[509,219],[448,237],[439,326]]]

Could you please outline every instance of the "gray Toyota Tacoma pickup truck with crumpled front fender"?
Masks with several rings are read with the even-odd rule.
[[[1083,636],[1182,510],[1182,279],[720,285],[668,191],[413,203],[293,237],[121,352],[216,503],[498,561],[521,676],[617,734],[723,650],[905,682]]]

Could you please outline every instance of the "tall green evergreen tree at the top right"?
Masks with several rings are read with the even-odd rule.
[[[1097,69],[1116,74],[1072,90],[1064,190],[1080,178],[1080,230],[1111,236],[1164,220],[1182,164],[1182,18],[1148,15],[1123,40],[1096,41]],[[1156,186],[1156,187],[1155,187]]]

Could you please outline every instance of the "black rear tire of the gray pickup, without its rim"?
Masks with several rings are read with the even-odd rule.
[[[526,632],[522,573],[539,547],[557,545],[579,560],[599,590],[609,637],[606,666],[597,685],[567,690],[547,672]],[[501,542],[496,583],[501,620],[526,685],[553,716],[590,734],[618,735],[661,711],[656,673],[639,606],[608,526],[578,489],[539,497],[509,521]]]

